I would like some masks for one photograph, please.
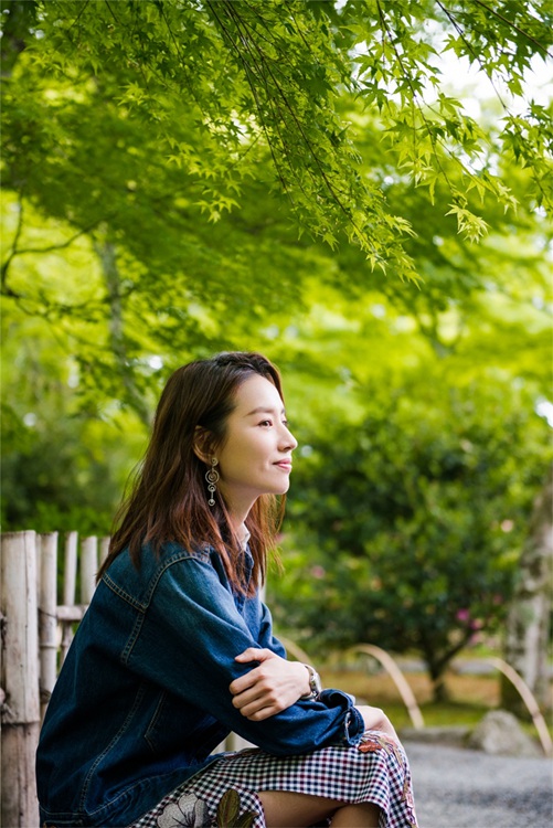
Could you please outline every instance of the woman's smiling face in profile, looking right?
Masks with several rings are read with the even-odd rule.
[[[217,486],[232,514],[244,520],[259,495],[288,491],[297,445],[273,383],[258,374],[245,380],[226,421],[226,439],[216,452]]]

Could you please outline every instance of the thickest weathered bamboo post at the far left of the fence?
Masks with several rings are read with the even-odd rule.
[[[39,635],[34,532],[1,538],[1,824],[38,828],[34,754],[39,743]]]

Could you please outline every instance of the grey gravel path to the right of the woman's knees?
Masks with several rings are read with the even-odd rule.
[[[404,741],[421,828],[552,828],[547,758]]]

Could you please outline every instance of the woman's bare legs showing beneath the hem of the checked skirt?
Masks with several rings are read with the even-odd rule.
[[[267,828],[302,828],[332,817],[337,828],[377,828],[380,808],[363,803],[347,805],[309,794],[283,790],[260,790]]]

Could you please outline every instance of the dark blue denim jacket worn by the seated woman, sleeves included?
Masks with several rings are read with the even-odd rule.
[[[248,551],[246,570],[253,560]],[[43,826],[128,826],[213,762],[234,731],[274,755],[359,742],[352,699],[325,690],[263,722],[232,704],[247,647],[285,656],[259,597],[231,587],[213,550],[127,552],[99,582],[56,681],[36,754]]]

